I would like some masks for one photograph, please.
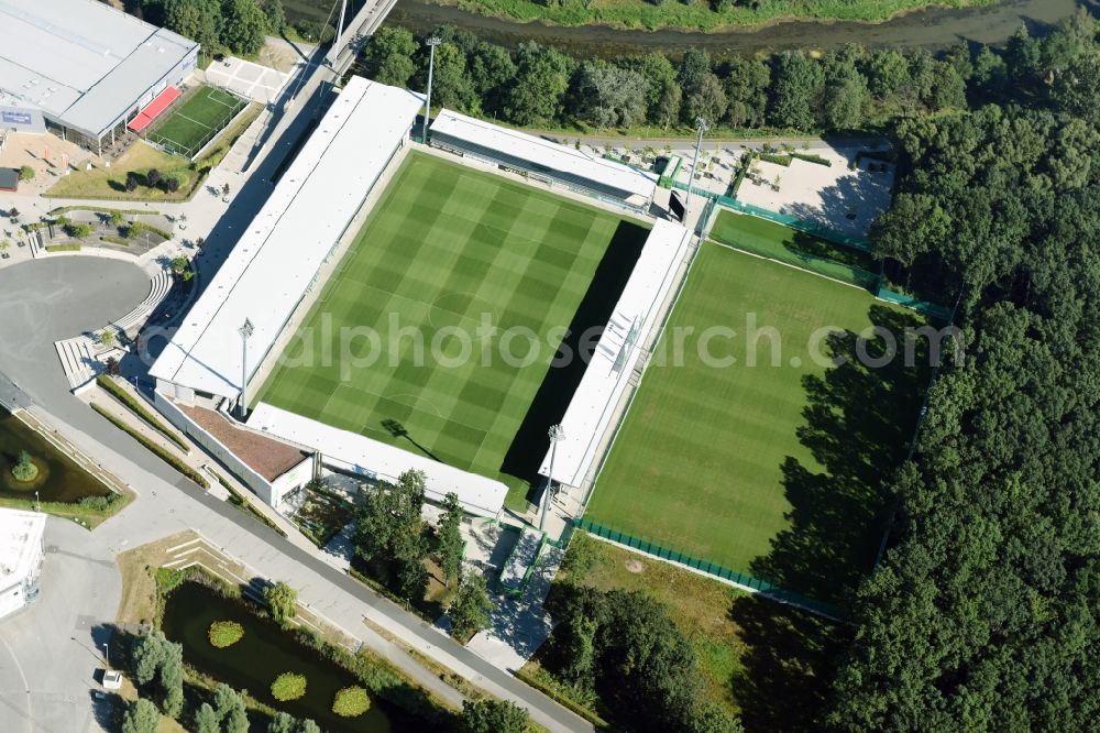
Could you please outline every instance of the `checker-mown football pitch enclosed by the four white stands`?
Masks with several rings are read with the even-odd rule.
[[[550,369],[561,331],[573,339],[607,321],[648,233],[632,219],[410,153],[299,330],[321,335],[310,348],[334,358],[300,365],[305,340],[292,341],[261,398],[502,479],[520,507],[547,429],[583,374],[580,360]],[[485,318],[496,331],[483,338]],[[380,336],[381,349],[362,338],[349,350],[354,369],[339,358],[344,327]],[[397,329],[408,331],[395,339]],[[457,331],[473,337],[468,358]],[[517,337],[505,343],[505,332]]]

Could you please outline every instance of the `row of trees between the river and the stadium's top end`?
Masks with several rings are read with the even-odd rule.
[[[944,58],[850,45],[815,58],[784,52],[721,63],[692,48],[676,63],[660,53],[579,61],[534,42],[512,51],[473,33],[436,33],[435,103],[512,124],[560,128],[694,127],[698,117],[732,129],[860,130],[898,117],[965,109],[967,80],[1000,83],[1003,62],[959,45]],[[1022,36],[1025,40],[1026,36]],[[424,89],[421,40],[383,26],[364,56],[384,84]]]

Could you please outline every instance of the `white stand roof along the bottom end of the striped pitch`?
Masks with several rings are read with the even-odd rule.
[[[504,497],[508,493],[508,486],[499,481],[273,407],[265,402],[252,412],[249,427],[311,446],[321,452],[326,463],[371,479],[392,482],[405,471],[424,471],[428,499],[440,503],[448,492],[453,491],[459,495],[462,508],[471,514],[496,516],[504,507]]]

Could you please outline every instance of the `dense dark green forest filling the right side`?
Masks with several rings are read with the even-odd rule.
[[[898,471],[832,727],[1094,730],[1100,708],[1100,48],[1018,34],[971,111],[898,128],[873,240],[961,295],[965,358]],[[993,73],[989,73],[988,69]]]

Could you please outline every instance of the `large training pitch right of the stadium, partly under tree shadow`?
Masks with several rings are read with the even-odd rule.
[[[865,366],[851,331],[920,322],[858,288],[705,243],[586,518],[835,600],[873,559],[881,482],[903,458],[924,373],[902,359]],[[708,344],[732,364],[700,355],[714,326],[736,331]],[[684,328],[695,337],[678,366],[670,339]],[[833,357],[847,362],[826,371],[818,362]]]

